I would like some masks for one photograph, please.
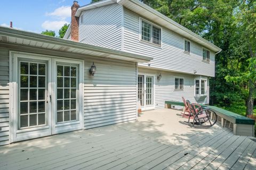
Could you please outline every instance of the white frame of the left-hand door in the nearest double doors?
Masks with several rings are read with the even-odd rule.
[[[32,139],[32,138],[39,138],[43,137],[46,135],[51,135],[51,104],[48,102],[46,111],[47,111],[47,124],[45,126],[38,126],[35,128],[29,128],[29,129],[23,129],[19,130],[18,129],[18,114],[17,114],[17,109],[18,109],[18,73],[19,73],[19,62],[18,58],[25,58],[29,60],[42,60],[42,61],[47,61],[47,95],[46,95],[46,101],[49,101],[49,95],[51,95],[51,58],[48,56],[38,56],[38,55],[33,55],[33,54],[25,54],[25,53],[20,53],[20,52],[10,52],[10,65],[12,65],[10,69],[10,142],[15,142],[15,141],[20,141],[20,140],[26,140],[26,139]],[[41,133],[35,133],[35,131],[41,131]]]

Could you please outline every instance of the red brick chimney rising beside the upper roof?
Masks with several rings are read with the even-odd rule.
[[[74,1],[71,6],[71,40],[78,41],[78,17],[75,16],[79,5],[77,1]]]

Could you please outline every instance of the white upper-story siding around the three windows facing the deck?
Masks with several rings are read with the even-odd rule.
[[[150,67],[177,72],[214,77],[215,59],[210,52],[210,62],[202,62],[202,46],[190,42],[190,55],[184,53],[184,37],[162,27],[162,48],[140,40],[140,16],[124,9],[124,51],[154,57]],[[148,66],[147,63],[143,66]]]

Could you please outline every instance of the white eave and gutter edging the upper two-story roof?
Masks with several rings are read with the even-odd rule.
[[[118,3],[120,5],[123,5],[125,8],[159,24],[163,27],[172,30],[173,32],[178,33],[179,35],[182,35],[183,37],[193,40],[194,42],[202,45],[205,48],[208,48],[212,50],[213,52],[220,52],[221,48],[215,46],[214,44],[210,43],[203,37],[197,35],[193,31],[190,31],[189,29],[183,27],[179,23],[173,21],[172,19],[168,18],[167,16],[161,14],[160,12],[154,10],[153,8],[149,7],[148,5],[138,1],[138,0],[104,0],[99,1],[93,4],[88,4],[85,6],[81,6],[78,8],[76,12],[76,16],[79,17],[82,13],[82,11],[90,10],[93,8],[98,8],[105,5],[110,5]]]

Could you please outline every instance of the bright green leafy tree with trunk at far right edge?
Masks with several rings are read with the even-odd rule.
[[[251,115],[256,92],[256,2],[242,1],[235,16],[236,35],[239,37],[237,49],[240,52],[237,53],[248,59],[236,76],[227,75],[225,79],[228,82],[244,84],[247,90],[246,115]]]

